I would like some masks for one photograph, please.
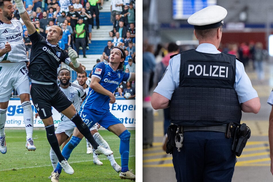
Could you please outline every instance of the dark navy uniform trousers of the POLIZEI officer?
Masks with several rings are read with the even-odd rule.
[[[173,152],[177,181],[231,181],[236,163],[232,142],[222,132],[185,131],[181,151],[175,147]]]

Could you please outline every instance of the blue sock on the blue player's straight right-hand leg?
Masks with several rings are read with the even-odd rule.
[[[120,135],[119,153],[121,155],[121,172],[129,171],[129,145],[131,133],[126,129]]]

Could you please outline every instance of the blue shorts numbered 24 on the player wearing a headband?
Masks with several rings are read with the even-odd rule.
[[[82,121],[86,123],[89,129],[96,123],[99,123],[105,129],[108,129],[108,127],[111,125],[122,124],[122,122],[110,111],[101,112],[94,109],[81,108],[79,114]]]

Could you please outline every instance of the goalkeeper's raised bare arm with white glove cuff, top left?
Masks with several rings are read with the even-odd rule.
[[[23,1],[22,0],[14,0],[16,3],[16,6],[18,8],[20,17],[22,18],[24,24],[26,25],[26,28],[28,30],[28,34],[31,35],[36,31],[35,26],[30,21],[30,16],[28,15],[28,12],[26,11]]]

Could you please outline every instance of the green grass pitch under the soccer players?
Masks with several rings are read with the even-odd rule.
[[[114,152],[116,162],[121,165],[119,138],[105,129],[99,129],[98,131]],[[131,132],[129,169],[133,169],[135,174],[135,130],[129,129],[129,131]],[[49,157],[50,145],[46,138],[45,129],[34,129],[33,138],[36,151],[26,149],[26,131],[24,128],[5,128],[5,133],[7,153],[0,153],[0,181],[51,181],[48,177],[51,175],[53,167]],[[59,181],[121,181],[119,173],[112,168],[107,157],[99,155],[99,159],[103,162],[103,165],[94,165],[93,154],[86,154],[86,140],[83,138],[68,160],[75,173],[68,175],[62,171]]]

